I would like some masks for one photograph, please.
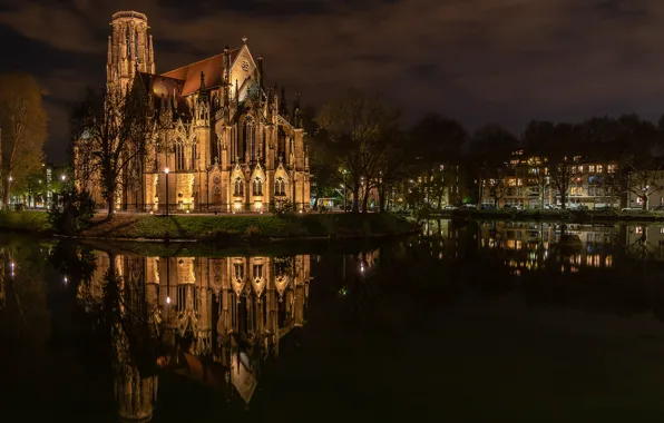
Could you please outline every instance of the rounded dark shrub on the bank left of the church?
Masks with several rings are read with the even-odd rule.
[[[48,212],[50,226],[65,235],[75,235],[90,226],[95,200],[87,190],[70,187],[60,194],[60,204]]]

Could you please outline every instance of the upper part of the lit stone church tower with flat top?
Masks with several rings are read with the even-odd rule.
[[[110,24],[113,35],[108,37],[106,82],[109,89],[120,88],[125,92],[136,70],[155,73],[153,36],[143,13],[117,12]]]

